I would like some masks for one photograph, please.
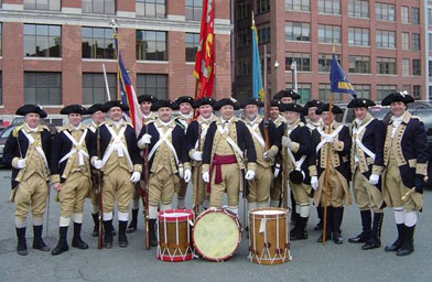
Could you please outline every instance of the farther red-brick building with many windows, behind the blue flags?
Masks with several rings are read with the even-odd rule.
[[[358,97],[379,101],[391,91],[407,90],[415,99],[426,98],[424,1],[237,0],[234,93],[238,97],[251,93],[252,11],[260,52],[264,44],[268,50],[272,94],[293,88],[295,62],[301,102],[327,100],[335,48]],[[336,102],[350,99],[338,94],[334,98]]]

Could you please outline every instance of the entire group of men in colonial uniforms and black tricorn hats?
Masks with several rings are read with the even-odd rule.
[[[341,245],[344,206],[352,202],[350,182],[363,230],[348,241],[364,243],[364,250],[379,248],[387,206],[395,210],[398,238],[385,250],[398,256],[411,253],[429,159],[424,126],[407,110],[412,97],[392,93],[382,100],[392,112],[388,124],[368,112],[375,106],[372,100],[353,99],[347,106],[356,117],[352,129],[336,121],[335,116],[343,112],[337,106],[311,100],[302,107],[293,89],[278,93],[264,118],[264,105],[253,98],[238,102],[183,96],[171,101],[142,95],[138,97],[143,117],[139,133],[125,119],[128,106],[118,100],[88,109],[65,107],[61,113],[68,122],[54,135],[40,123],[46,117],[43,109],[20,107],[17,115],[24,116],[24,123],[13,130],[4,147],[4,161],[13,167],[10,200],[15,205],[18,253],[28,254],[29,209],[33,249],[50,251],[42,239],[50,185],[61,205],[60,238],[52,250],[52,254],[60,254],[68,250],[71,219],[72,247],[88,248],[80,237],[86,197],[91,199],[94,237],[99,235],[99,217],[102,219],[105,248],[112,247],[116,236],[112,219],[117,204],[118,246],[125,248],[127,234],[137,230],[144,191],[150,245],[156,246],[158,212],[174,208],[174,194],[176,208],[186,208],[191,186],[197,212],[222,207],[225,193],[225,207],[236,215],[240,193],[249,210],[291,205],[291,240],[307,239],[312,198],[320,218],[315,229],[325,229],[318,241],[333,239]],[[242,119],[235,116],[240,108]],[[83,124],[84,115],[90,115],[90,124]],[[148,171],[143,171],[143,151]],[[99,172],[101,183],[95,177]]]

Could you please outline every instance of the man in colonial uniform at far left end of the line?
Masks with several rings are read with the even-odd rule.
[[[12,166],[12,193],[10,200],[15,204],[17,252],[26,256],[26,216],[29,208],[33,216],[33,249],[50,251],[42,240],[42,218],[48,195],[47,181],[51,162],[51,133],[46,126],[39,123],[46,112],[34,105],[20,107],[15,115],[24,116],[24,123],[9,135],[3,161]]]

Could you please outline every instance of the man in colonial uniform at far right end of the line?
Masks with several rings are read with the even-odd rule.
[[[423,206],[423,185],[428,175],[428,141],[423,122],[407,111],[407,105],[414,101],[406,93],[392,93],[382,99],[382,106],[390,106],[393,115],[387,126],[384,147],[386,166],[382,196],[386,204],[395,209],[398,239],[386,247],[397,256],[414,251],[414,229],[418,212]],[[407,198],[402,197],[411,189]]]

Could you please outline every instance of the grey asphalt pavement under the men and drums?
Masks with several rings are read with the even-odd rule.
[[[15,252],[17,239],[13,204],[7,203],[10,193],[10,170],[0,170],[0,281],[432,281],[432,191],[424,192],[424,208],[415,229],[415,251],[408,257],[387,253],[384,247],[364,251],[361,245],[349,243],[347,238],[360,231],[360,218],[355,205],[345,208],[341,246],[328,241],[316,242],[320,234],[313,230],[317,223],[315,209],[307,226],[309,239],[291,242],[292,261],[280,265],[259,265],[248,259],[248,240],[242,237],[235,254],[225,262],[194,259],[185,262],[163,262],[156,259],[156,250],[144,249],[144,224],[140,218],[139,229],[128,236],[129,247],[119,248],[115,237],[114,248],[97,249],[97,238],[91,237],[93,220],[89,200],[85,205],[83,239],[87,250],[75,248],[60,254],[31,249],[31,217],[28,218],[29,256]],[[191,206],[191,192],[187,197]],[[58,238],[58,203],[51,193],[50,225],[45,242],[54,248]],[[240,218],[242,207],[240,206]],[[141,209],[140,209],[141,210]],[[117,220],[117,219],[116,219]],[[46,227],[46,215],[44,218]],[[118,230],[117,221],[115,224]],[[69,228],[68,240],[72,239]],[[44,230],[45,235],[45,230]],[[393,212],[385,210],[382,242],[391,243],[397,236]]]

